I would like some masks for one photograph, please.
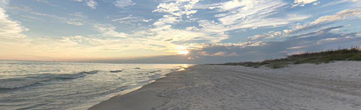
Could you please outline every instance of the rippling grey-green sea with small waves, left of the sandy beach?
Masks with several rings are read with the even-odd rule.
[[[87,110],[189,66],[0,60],[0,110]]]

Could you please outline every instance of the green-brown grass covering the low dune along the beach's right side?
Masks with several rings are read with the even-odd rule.
[[[206,65],[229,65],[245,66],[258,68],[259,66],[271,67],[272,69],[288,67],[289,64],[312,63],[315,65],[321,63],[331,63],[333,61],[361,61],[361,48],[352,46],[344,49],[328,49],[315,52],[306,52],[292,54],[280,59],[266,59],[262,62],[230,62],[224,64],[206,64]]]

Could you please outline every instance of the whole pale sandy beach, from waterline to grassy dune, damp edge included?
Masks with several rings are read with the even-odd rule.
[[[361,110],[361,62],[196,65],[89,110]]]

